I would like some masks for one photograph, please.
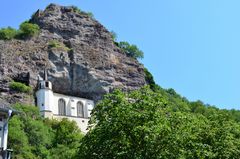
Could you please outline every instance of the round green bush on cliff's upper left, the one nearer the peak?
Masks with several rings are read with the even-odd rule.
[[[39,34],[40,28],[37,24],[23,22],[19,28],[19,38],[29,38]]]

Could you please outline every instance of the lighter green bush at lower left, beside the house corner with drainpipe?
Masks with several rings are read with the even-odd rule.
[[[51,129],[44,125],[37,107],[16,104],[20,115],[9,123],[9,147],[14,150],[13,158],[49,158]]]

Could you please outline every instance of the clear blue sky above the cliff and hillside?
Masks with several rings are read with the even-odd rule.
[[[4,0],[0,27],[18,25],[49,3],[91,11],[118,40],[136,44],[163,88],[219,108],[240,106],[238,0]]]

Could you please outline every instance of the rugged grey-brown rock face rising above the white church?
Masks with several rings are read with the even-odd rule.
[[[30,21],[41,28],[37,37],[0,40],[0,99],[28,101],[29,97],[11,90],[9,82],[36,89],[44,68],[55,92],[95,101],[114,88],[128,91],[146,84],[143,66],[115,46],[109,31],[86,13],[50,4]],[[50,43],[60,45],[50,47]]]

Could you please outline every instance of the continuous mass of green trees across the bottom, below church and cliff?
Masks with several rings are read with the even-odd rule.
[[[150,75],[147,79],[155,83]],[[84,137],[74,122],[42,119],[36,107],[17,104],[22,113],[9,124],[13,158],[240,156],[240,111],[189,102],[174,89],[156,88],[106,95],[94,108]]]

